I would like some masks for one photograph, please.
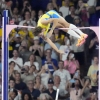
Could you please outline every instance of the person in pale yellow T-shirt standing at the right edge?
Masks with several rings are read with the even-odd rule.
[[[94,56],[93,57],[93,64],[89,67],[89,70],[87,73],[87,76],[89,76],[91,79],[91,86],[97,86],[96,76],[97,76],[98,70],[99,70],[98,57]]]

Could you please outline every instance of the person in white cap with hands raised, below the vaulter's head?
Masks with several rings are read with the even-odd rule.
[[[33,52],[35,56],[43,57],[43,46],[39,45],[39,37],[34,37],[34,45],[30,46],[29,50]]]

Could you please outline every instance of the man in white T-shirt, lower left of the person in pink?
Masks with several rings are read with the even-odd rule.
[[[53,73],[53,76],[58,75],[61,78],[61,84],[65,85],[71,79],[70,73],[69,71],[63,69],[64,66],[63,61],[60,60],[58,66],[59,69]]]

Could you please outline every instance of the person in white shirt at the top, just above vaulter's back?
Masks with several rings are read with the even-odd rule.
[[[62,12],[63,17],[69,15],[69,0],[64,0],[65,1],[65,6],[62,6],[59,8],[59,11]]]

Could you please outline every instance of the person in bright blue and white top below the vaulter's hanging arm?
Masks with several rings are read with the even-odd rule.
[[[46,57],[42,60],[42,65],[47,65],[47,69],[53,74],[57,70],[57,60],[51,58],[51,49],[46,50]]]

